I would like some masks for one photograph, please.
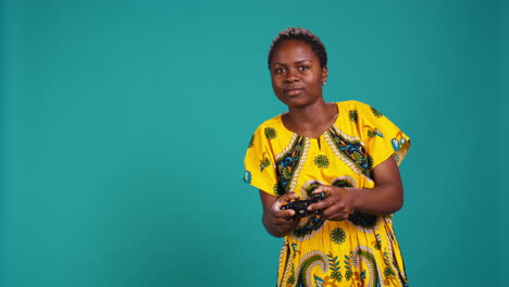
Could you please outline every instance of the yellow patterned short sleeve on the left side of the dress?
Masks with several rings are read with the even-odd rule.
[[[277,176],[270,138],[275,130],[260,126],[253,133],[244,159],[244,182],[270,195],[276,195]]]

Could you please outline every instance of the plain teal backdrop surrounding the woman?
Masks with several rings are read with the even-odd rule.
[[[288,26],[330,55],[328,101],[411,138],[395,216],[411,286],[501,285],[507,1],[0,2],[0,285],[273,286],[244,152],[285,111]]]

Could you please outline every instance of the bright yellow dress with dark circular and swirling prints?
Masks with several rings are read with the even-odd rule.
[[[310,197],[318,184],[373,188],[373,167],[399,164],[409,138],[387,117],[358,101],[336,103],[335,124],[320,138],[288,130],[277,115],[254,132],[244,180],[270,195]],[[300,221],[280,255],[277,286],[407,286],[392,215],[353,212],[346,221]]]

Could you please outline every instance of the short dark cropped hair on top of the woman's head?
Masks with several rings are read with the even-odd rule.
[[[280,46],[280,43],[286,40],[298,40],[308,43],[311,46],[311,50],[314,52],[314,54],[319,58],[321,67],[327,66],[327,52],[325,51],[325,46],[320,40],[320,38],[309,29],[289,27],[280,32],[274,40],[272,40],[271,49],[269,50],[269,70],[271,70],[274,50],[277,48],[277,46]]]

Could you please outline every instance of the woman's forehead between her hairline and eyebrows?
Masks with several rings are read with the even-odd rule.
[[[298,61],[319,61],[311,46],[300,40],[285,40],[281,42],[274,50],[272,62],[275,63],[293,63]]]

